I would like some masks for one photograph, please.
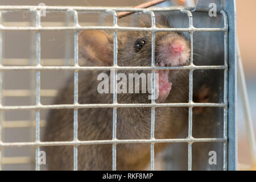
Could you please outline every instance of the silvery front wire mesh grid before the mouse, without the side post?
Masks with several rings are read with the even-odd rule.
[[[34,13],[36,17],[35,26],[29,27],[5,27],[1,24],[1,14],[4,11],[30,11]],[[77,146],[82,144],[112,144],[113,148],[113,170],[116,169],[116,145],[118,143],[150,143],[151,144],[151,170],[154,170],[154,144],[155,143],[175,143],[175,142],[185,142],[188,143],[188,170],[192,169],[192,144],[195,142],[223,142],[224,143],[224,166],[223,169],[227,169],[227,114],[228,114],[228,19],[225,11],[221,10],[220,13],[224,17],[224,27],[223,28],[195,28],[193,26],[192,13],[189,10],[185,10],[181,7],[168,7],[168,8],[158,8],[158,9],[125,9],[125,8],[96,8],[96,7],[46,7],[47,11],[50,12],[69,12],[73,14],[74,24],[73,26],[63,26],[63,27],[42,27],[40,22],[40,7],[37,6],[0,6],[0,95],[4,93],[2,90],[2,71],[36,71],[36,104],[31,106],[0,106],[1,112],[6,110],[33,110],[35,111],[35,142],[2,142],[1,131],[2,122],[0,122],[0,160],[2,148],[5,147],[17,147],[17,146],[35,146],[35,169],[40,170],[39,164],[39,151],[40,146],[63,146],[71,145],[73,146],[73,169],[77,170]],[[80,26],[78,20],[78,14],[84,11],[96,12],[96,13],[108,13],[113,15],[113,26]],[[141,12],[143,14],[150,14],[151,16],[151,27],[150,28],[138,28],[138,27],[121,27],[117,24],[117,13],[116,11],[135,11]],[[188,28],[158,28],[155,26],[155,15],[154,12],[158,11],[180,11],[183,14],[187,14],[189,18]],[[36,32],[36,65],[34,66],[5,66],[2,65],[2,31],[34,31]],[[57,31],[57,30],[73,30],[74,31],[74,65],[73,66],[43,66],[40,63],[40,32],[42,31]],[[112,67],[81,67],[78,64],[78,34],[81,30],[113,30],[114,31],[114,59]],[[151,67],[119,67],[117,65],[117,31],[150,31],[152,32],[152,57],[151,57]],[[155,33],[160,31],[179,31],[179,32],[189,32],[189,38],[191,40],[191,63],[184,67],[157,67],[157,69],[186,69],[189,70],[189,102],[188,103],[170,103],[170,104],[156,104],[152,100],[151,104],[118,104],[117,103],[117,71],[119,70],[150,70],[152,71],[152,84],[151,90],[154,96],[154,74],[155,74]],[[224,65],[217,66],[197,66],[193,64],[193,32],[225,32],[224,35]],[[193,71],[196,69],[222,69],[224,70],[224,102],[217,103],[195,103],[193,102]],[[78,72],[79,71],[92,71],[92,70],[111,70],[114,72],[113,80],[113,104],[79,104],[78,103]],[[73,71],[74,72],[74,102],[73,104],[62,104],[62,105],[42,105],[40,104],[40,72],[41,71]],[[2,97],[0,97],[0,104],[2,102]],[[189,108],[189,118],[188,118],[188,137],[185,139],[155,139],[154,138],[154,128],[155,128],[155,107],[188,107]],[[77,138],[77,110],[80,108],[98,108],[98,107],[110,107],[113,108],[113,138],[112,140],[90,140],[81,141]],[[151,108],[151,138],[150,139],[117,139],[117,108],[118,107],[150,107]],[[193,138],[192,136],[192,109],[193,107],[223,107],[224,108],[224,130],[223,138]],[[43,109],[74,109],[74,131],[73,131],[73,141],[65,142],[40,142],[40,110]],[[11,127],[11,126],[10,126]],[[0,162],[2,164],[2,161]],[[1,166],[0,166],[1,167]]]

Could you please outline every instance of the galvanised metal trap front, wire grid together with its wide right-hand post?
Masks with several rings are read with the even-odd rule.
[[[35,169],[40,170],[39,153],[42,146],[73,146],[73,169],[77,170],[77,147],[84,144],[112,144],[112,168],[116,170],[116,146],[119,143],[149,143],[151,144],[151,170],[154,170],[154,144],[155,143],[188,143],[188,170],[192,170],[192,144],[196,142],[222,142],[224,145],[224,170],[237,169],[237,139],[236,139],[236,98],[237,98],[237,63],[236,63],[236,7],[234,1],[214,1],[218,4],[218,12],[224,18],[224,27],[222,28],[195,28],[193,26],[192,11],[208,11],[208,7],[204,3],[198,1],[195,9],[185,9],[184,7],[166,7],[166,8],[150,8],[150,9],[131,9],[119,7],[61,7],[61,6],[46,6],[43,7],[47,12],[68,12],[73,14],[73,26],[41,26],[40,10],[42,6],[0,6],[0,112],[7,110],[32,110],[35,113],[35,141],[34,142],[3,142],[1,131],[3,126],[0,122],[0,168],[3,165],[3,149],[6,147],[20,147],[33,146],[35,147]],[[3,26],[1,23],[2,14],[8,11],[26,11],[31,12],[35,16],[35,23],[28,27]],[[122,27],[117,23],[117,12],[133,11],[151,16],[150,28],[138,27]],[[179,11],[186,14],[189,19],[188,28],[158,28],[155,25],[155,12],[163,11]],[[113,15],[113,26],[80,26],[78,14],[82,12],[107,13]],[[40,33],[42,31],[61,31],[72,30],[74,35],[74,64],[72,66],[44,66],[40,63]],[[114,59],[112,67],[81,67],[79,65],[79,46],[78,34],[81,30],[112,30],[114,31]],[[117,32],[118,31],[150,31],[152,32],[152,57],[150,67],[119,67],[117,65]],[[28,66],[6,66],[2,64],[2,31],[32,31],[36,32],[36,65]],[[224,65],[216,66],[197,66],[193,64],[193,44],[191,43],[191,63],[184,67],[155,67],[155,33],[160,31],[177,31],[188,32],[191,42],[193,41],[193,32],[225,32],[224,35]],[[118,104],[117,102],[117,71],[120,70],[150,70],[152,72],[152,93],[155,90],[154,74],[155,69],[186,69],[189,70],[189,102],[188,103],[170,103],[170,104],[156,104],[152,100],[151,104]],[[223,103],[195,103],[193,102],[193,71],[197,69],[221,69],[224,70],[224,102]],[[35,71],[36,72],[36,101],[35,105],[24,106],[4,106],[2,105],[2,72],[3,71]],[[78,102],[78,72],[79,71],[93,71],[93,70],[110,70],[114,72],[114,89],[113,89],[113,103],[112,104],[79,104]],[[41,71],[72,71],[74,74],[74,102],[73,104],[63,105],[42,105],[40,103],[40,96],[42,90],[40,89],[40,72]],[[188,107],[188,137],[185,139],[155,139],[155,108],[156,107]],[[81,108],[98,108],[109,107],[113,108],[113,138],[111,140],[86,140],[81,141],[77,138],[78,121],[77,110]],[[150,107],[151,108],[151,138],[150,139],[117,139],[117,108],[118,107]],[[223,138],[194,138],[192,136],[192,115],[193,107],[222,107],[224,108],[224,129]],[[73,109],[73,141],[64,142],[41,142],[40,141],[40,111],[45,109]],[[2,155],[1,155],[2,154]],[[15,163],[15,162],[14,162]]]

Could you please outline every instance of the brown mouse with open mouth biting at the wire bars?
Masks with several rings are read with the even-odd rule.
[[[160,27],[160,25],[158,25]],[[83,65],[111,66],[113,64],[113,32],[100,30],[82,31],[79,35],[79,53],[86,61]],[[177,32],[158,32],[155,35],[155,65],[181,66],[189,64],[189,42]],[[118,32],[118,65],[151,65],[151,32]],[[118,71],[118,73],[150,73],[151,71]],[[111,104],[112,93],[98,93],[100,73],[110,71],[79,72],[80,104]],[[158,103],[188,102],[188,71],[160,71]],[[73,78],[60,90],[55,104],[73,104]],[[110,80],[113,81],[113,80]],[[120,93],[117,102],[150,104],[149,93]],[[155,138],[176,138],[187,127],[188,109],[185,107],[156,107]],[[113,110],[111,108],[89,108],[78,111],[79,140],[112,139]],[[117,139],[150,139],[151,108],[123,107],[117,109]],[[73,140],[73,109],[51,110],[44,141]],[[166,143],[155,146],[155,154]],[[73,146],[50,146],[44,149],[47,165],[51,170],[73,169]],[[117,169],[140,170],[150,161],[150,144],[117,144]],[[112,145],[92,144],[78,147],[79,170],[111,170]]]

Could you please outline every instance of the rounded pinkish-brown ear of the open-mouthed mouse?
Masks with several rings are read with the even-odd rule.
[[[112,65],[113,41],[104,31],[82,31],[79,34],[79,54],[97,66]]]

